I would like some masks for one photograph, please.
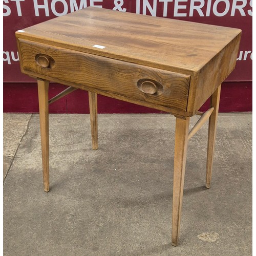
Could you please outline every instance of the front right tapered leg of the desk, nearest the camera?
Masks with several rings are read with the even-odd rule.
[[[173,189],[172,245],[177,246],[180,237],[180,219],[184,187],[184,175],[188,142],[189,117],[176,118]]]

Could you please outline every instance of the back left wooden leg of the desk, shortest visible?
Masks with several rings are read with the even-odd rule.
[[[97,93],[88,92],[93,150],[98,149],[98,107]]]

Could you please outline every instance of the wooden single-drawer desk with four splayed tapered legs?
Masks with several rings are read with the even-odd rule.
[[[209,118],[210,187],[220,84],[236,65],[240,29],[86,8],[16,32],[22,72],[38,81],[44,190],[49,191],[48,103],[89,91],[93,149],[97,94],[176,116],[172,244],[178,245],[188,139]],[[48,101],[49,81],[70,86]],[[211,97],[204,114],[198,110]],[[189,117],[202,117],[188,132]]]

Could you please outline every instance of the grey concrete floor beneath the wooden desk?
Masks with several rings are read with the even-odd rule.
[[[190,139],[178,247],[170,244],[175,118],[98,119],[93,151],[89,115],[50,115],[45,193],[38,115],[4,114],[4,255],[252,254],[251,114],[220,114],[210,189],[207,124]]]

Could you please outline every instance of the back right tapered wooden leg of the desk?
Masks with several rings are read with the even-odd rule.
[[[214,106],[214,111],[209,118],[208,128],[208,147],[207,147],[207,162],[206,162],[206,184],[210,188],[212,162],[214,161],[214,146],[216,138],[217,119],[219,113],[221,86],[211,95],[210,106]]]

